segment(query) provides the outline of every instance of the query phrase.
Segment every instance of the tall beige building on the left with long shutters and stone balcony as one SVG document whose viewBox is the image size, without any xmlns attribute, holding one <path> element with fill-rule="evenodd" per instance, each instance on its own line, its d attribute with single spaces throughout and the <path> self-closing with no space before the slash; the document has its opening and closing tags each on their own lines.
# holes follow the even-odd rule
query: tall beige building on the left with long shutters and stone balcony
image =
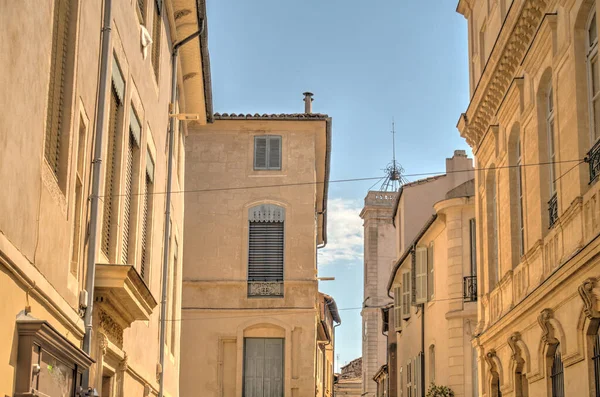
<svg viewBox="0 0 600 397">
<path fill-rule="evenodd" d="M 91 368 L 101 396 L 157 395 L 157 303 L 167 288 L 168 318 L 178 317 L 183 197 L 172 202 L 171 277 L 161 285 L 165 195 L 154 193 L 166 190 L 171 51 L 202 28 L 204 2 L 3 1 L 0 8 L 10 37 L 0 44 L 0 394 L 74 396 Z M 195 125 L 212 115 L 208 65 L 204 23 L 175 63 L 173 111 L 197 114 Z M 174 129 L 174 190 L 183 189 L 186 128 Z M 93 199 L 99 217 L 91 230 L 93 164 L 101 197 Z M 93 232 L 86 354 L 82 291 L 93 274 L 86 259 Z M 168 396 L 179 395 L 179 324 L 167 326 Z"/>
</svg>

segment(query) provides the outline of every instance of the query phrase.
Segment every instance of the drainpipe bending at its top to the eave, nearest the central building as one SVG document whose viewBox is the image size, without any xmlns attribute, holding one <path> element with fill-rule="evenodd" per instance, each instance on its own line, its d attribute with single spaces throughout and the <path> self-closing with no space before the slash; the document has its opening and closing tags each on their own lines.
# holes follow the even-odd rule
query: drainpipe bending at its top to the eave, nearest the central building
<svg viewBox="0 0 600 397">
<path fill-rule="evenodd" d="M 167 313 L 167 282 L 169 278 L 169 243 L 170 243 L 170 227 L 171 223 L 171 182 L 173 179 L 173 143 L 175 141 L 175 101 L 177 100 L 177 55 L 179 53 L 179 47 L 188 43 L 202 34 L 204 30 L 204 19 L 199 21 L 201 26 L 200 30 L 196 33 L 192 33 L 185 39 L 176 43 L 173 46 L 173 52 L 171 54 L 171 103 L 169 104 L 169 156 L 167 158 L 167 190 L 166 190 L 166 211 L 165 211 L 165 235 L 163 242 L 163 263 L 162 263 L 162 298 L 160 301 L 160 374 L 159 374 L 159 387 L 158 397 L 163 397 L 164 385 L 165 385 L 165 339 L 166 339 L 166 313 Z"/>
</svg>

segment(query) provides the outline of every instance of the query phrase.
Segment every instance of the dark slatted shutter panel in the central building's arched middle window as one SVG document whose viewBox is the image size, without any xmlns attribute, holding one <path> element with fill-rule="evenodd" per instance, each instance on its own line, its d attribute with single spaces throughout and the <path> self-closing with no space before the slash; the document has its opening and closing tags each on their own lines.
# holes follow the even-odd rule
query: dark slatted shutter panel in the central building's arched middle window
<svg viewBox="0 0 600 397">
<path fill-rule="evenodd" d="M 283 281 L 283 222 L 250 222 L 248 281 Z"/>
</svg>

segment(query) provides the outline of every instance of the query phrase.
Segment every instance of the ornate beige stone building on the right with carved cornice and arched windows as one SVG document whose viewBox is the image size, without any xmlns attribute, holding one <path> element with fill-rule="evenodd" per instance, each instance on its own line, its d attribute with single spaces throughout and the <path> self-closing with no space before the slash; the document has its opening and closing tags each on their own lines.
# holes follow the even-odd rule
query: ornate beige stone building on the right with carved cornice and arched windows
<svg viewBox="0 0 600 397">
<path fill-rule="evenodd" d="M 480 396 L 596 396 L 594 1 L 458 3 L 469 31 Z M 584 162 L 585 159 L 585 162 Z"/>
</svg>

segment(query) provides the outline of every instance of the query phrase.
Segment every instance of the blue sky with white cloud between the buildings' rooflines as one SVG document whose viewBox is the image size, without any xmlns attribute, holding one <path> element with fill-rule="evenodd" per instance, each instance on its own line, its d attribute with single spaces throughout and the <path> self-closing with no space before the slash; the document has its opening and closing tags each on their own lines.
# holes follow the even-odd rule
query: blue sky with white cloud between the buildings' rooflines
<svg viewBox="0 0 600 397">
<path fill-rule="evenodd" d="M 374 177 L 396 153 L 407 174 L 443 172 L 468 146 L 456 122 L 468 106 L 466 20 L 449 0 L 207 2 L 216 112 L 333 118 L 331 180 Z M 415 178 L 409 178 L 413 180 Z M 373 182 L 332 183 L 329 244 L 319 274 L 340 309 L 336 355 L 361 355 L 362 200 Z"/>
</svg>

